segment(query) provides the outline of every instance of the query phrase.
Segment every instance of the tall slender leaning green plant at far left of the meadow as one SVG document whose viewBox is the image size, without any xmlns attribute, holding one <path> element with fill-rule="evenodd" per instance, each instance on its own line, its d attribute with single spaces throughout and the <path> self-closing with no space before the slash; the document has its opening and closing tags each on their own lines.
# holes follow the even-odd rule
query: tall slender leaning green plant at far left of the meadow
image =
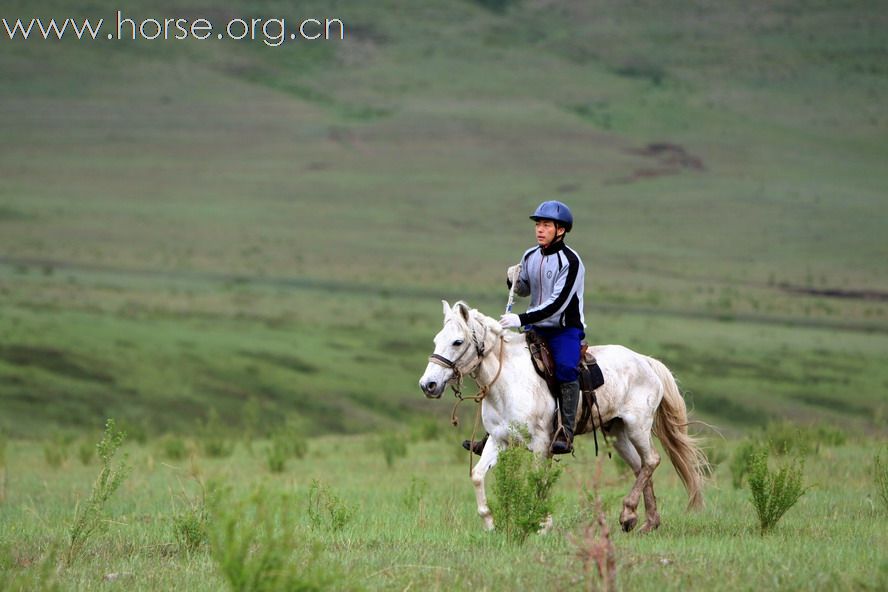
<svg viewBox="0 0 888 592">
<path fill-rule="evenodd" d="M 65 563 L 68 565 L 71 565 L 89 539 L 105 526 L 103 520 L 105 504 L 123 483 L 130 470 L 126 456 L 116 465 L 113 462 L 114 455 L 125 438 L 126 434 L 117 430 L 113 419 L 105 423 L 105 433 L 96 444 L 102 469 L 93 483 L 89 499 L 82 504 L 78 503 L 75 509 L 74 522 L 68 532 L 68 550 L 65 554 Z"/>
</svg>

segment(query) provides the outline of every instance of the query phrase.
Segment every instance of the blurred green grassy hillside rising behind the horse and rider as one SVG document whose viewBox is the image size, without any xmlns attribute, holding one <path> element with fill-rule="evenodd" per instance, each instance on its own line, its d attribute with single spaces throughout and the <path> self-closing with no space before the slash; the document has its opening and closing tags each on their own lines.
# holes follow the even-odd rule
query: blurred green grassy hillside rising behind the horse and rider
<svg viewBox="0 0 888 592">
<path fill-rule="evenodd" d="M 127 10 L 257 13 L 346 38 L 0 39 L 0 428 L 237 425 L 251 399 L 316 432 L 443 421 L 416 387 L 440 298 L 497 314 L 558 198 L 590 341 L 729 429 L 885 429 L 877 3 Z"/>
</svg>

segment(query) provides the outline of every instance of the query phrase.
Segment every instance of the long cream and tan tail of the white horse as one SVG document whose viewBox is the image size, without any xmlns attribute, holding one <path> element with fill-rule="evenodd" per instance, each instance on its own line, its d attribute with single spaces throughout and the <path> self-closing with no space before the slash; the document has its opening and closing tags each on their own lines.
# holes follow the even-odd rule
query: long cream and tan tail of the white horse
<svg viewBox="0 0 888 592">
<path fill-rule="evenodd" d="M 654 416 L 654 435 L 660 439 L 672 466 L 688 491 L 688 509 L 703 507 L 703 479 L 709 468 L 699 439 L 688 434 L 688 412 L 675 378 L 663 362 L 648 357 L 663 383 L 663 400 Z"/>
</svg>

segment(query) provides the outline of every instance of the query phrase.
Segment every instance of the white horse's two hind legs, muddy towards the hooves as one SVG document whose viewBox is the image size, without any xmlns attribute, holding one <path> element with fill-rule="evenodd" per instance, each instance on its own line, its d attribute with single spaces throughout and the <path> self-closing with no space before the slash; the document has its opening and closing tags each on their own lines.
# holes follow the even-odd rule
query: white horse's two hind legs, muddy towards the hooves
<svg viewBox="0 0 888 592">
<path fill-rule="evenodd" d="M 644 494 L 645 510 L 647 511 L 647 520 L 645 521 L 643 531 L 653 530 L 660 524 L 660 516 L 657 513 L 657 502 L 654 498 L 654 487 L 651 480 L 654 470 L 660 464 L 660 455 L 654 450 L 653 443 L 651 442 L 650 423 L 648 421 L 646 422 L 647 425 L 638 425 L 635 422 L 627 422 L 625 418 L 623 419 L 623 433 L 628 440 L 628 443 L 624 446 L 627 450 L 632 450 L 629 456 L 634 462 L 638 463 L 636 465 L 638 466 L 637 470 L 636 466 L 632 467 L 633 470 L 636 470 L 635 483 L 629 491 L 629 495 L 623 498 L 623 511 L 620 513 L 620 525 L 626 532 L 635 528 L 638 522 L 636 510 L 638 509 L 638 502 L 642 493 Z M 626 455 L 623 455 L 623 458 L 626 458 Z M 629 459 L 627 459 L 627 462 L 632 464 Z"/>
</svg>

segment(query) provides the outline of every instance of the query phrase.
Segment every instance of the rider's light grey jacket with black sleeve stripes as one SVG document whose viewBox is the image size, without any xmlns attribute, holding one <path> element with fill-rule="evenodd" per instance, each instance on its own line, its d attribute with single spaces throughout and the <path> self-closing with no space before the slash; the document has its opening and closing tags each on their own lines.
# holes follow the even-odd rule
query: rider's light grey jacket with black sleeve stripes
<svg viewBox="0 0 888 592">
<path fill-rule="evenodd" d="M 545 249 L 540 246 L 528 249 L 521 261 L 515 293 L 531 297 L 527 312 L 518 315 L 521 325 L 584 330 L 586 268 L 577 252 L 564 241 L 557 241 Z"/>
</svg>

